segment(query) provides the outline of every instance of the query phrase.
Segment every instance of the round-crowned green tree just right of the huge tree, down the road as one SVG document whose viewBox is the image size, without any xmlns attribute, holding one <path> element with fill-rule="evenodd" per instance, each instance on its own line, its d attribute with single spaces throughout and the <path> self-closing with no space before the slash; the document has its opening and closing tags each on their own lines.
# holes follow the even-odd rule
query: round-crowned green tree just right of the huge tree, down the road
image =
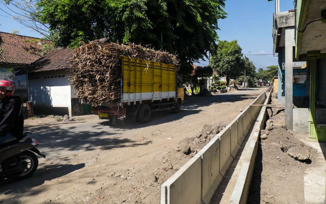
<svg viewBox="0 0 326 204">
<path fill-rule="evenodd" d="M 212 67 L 220 76 L 226 76 L 227 86 L 230 78 L 237 78 L 242 73 L 242 49 L 237 40 L 219 41 L 217 51 L 212 55 Z"/>
</svg>

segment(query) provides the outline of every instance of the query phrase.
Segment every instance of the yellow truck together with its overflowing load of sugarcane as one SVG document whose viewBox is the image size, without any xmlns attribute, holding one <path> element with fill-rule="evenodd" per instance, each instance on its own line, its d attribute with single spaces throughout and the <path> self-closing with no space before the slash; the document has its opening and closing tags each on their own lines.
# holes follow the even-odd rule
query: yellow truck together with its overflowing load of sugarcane
<svg viewBox="0 0 326 204">
<path fill-rule="evenodd" d="M 91 103 L 100 119 L 132 118 L 145 123 L 152 112 L 184 103 L 175 55 L 141 45 L 95 40 L 75 50 L 71 81 L 75 94 Z"/>
</svg>

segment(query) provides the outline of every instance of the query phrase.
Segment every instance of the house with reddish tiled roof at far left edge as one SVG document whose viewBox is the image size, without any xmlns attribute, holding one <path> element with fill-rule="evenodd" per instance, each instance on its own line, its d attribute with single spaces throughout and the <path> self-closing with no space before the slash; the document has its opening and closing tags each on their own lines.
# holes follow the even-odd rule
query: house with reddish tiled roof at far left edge
<svg viewBox="0 0 326 204">
<path fill-rule="evenodd" d="M 15 95 L 21 96 L 27 101 L 27 80 L 22 72 L 41 56 L 42 44 L 51 43 L 33 37 L 0 32 L 0 78 L 13 81 L 15 84 Z M 26 71 L 24 72 L 26 73 Z"/>
</svg>

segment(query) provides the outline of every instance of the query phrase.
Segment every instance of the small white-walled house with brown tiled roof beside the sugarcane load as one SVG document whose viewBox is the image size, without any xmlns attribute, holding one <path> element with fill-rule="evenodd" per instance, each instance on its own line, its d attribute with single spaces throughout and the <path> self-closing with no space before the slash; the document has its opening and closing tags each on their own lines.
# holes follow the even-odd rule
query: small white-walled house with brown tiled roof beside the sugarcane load
<svg viewBox="0 0 326 204">
<path fill-rule="evenodd" d="M 69 116 L 91 112 L 91 106 L 82 105 L 70 85 L 69 67 L 73 55 L 72 49 L 56 48 L 30 65 L 28 93 L 34 112 Z"/>
</svg>

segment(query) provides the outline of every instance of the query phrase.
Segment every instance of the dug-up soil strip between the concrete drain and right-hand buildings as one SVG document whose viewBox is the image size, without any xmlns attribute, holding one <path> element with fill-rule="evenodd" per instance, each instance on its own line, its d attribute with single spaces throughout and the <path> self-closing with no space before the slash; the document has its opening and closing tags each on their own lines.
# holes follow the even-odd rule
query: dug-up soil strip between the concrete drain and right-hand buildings
<svg viewBox="0 0 326 204">
<path fill-rule="evenodd" d="M 268 136 L 259 140 L 248 203 L 305 203 L 304 171 L 315 165 L 317 152 L 300 141 L 307 134 L 284 128 L 283 108 L 272 108 L 273 114 L 271 110 L 268 112 L 273 121 L 272 130 L 267 130 L 267 126 L 261 132 L 267 132 Z M 293 149 L 297 154 L 309 155 L 309 158 L 303 161 L 294 159 L 289 156 Z"/>
</svg>

